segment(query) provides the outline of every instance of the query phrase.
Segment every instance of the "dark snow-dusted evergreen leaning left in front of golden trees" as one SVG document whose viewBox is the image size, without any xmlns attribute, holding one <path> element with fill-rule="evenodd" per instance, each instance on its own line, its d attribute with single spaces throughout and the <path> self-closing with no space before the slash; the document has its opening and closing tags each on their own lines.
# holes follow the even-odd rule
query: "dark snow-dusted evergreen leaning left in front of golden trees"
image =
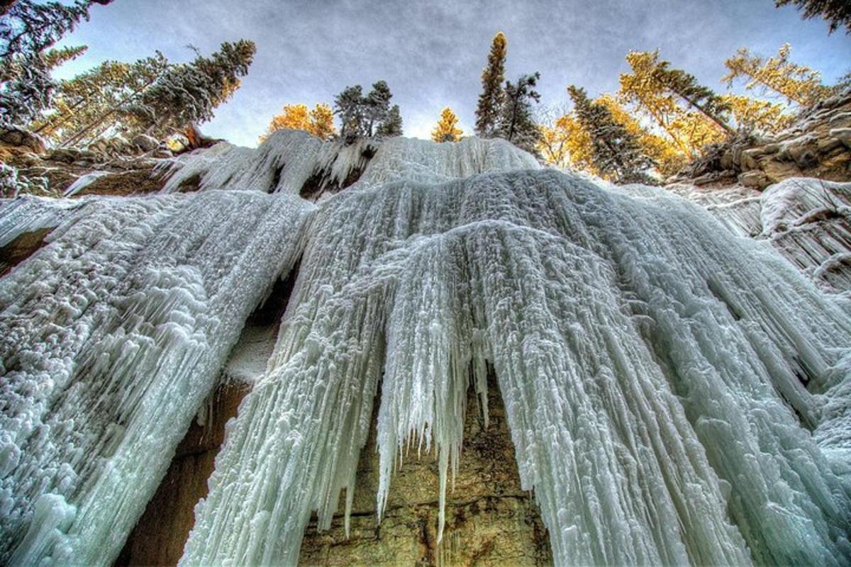
<svg viewBox="0 0 851 567">
<path fill-rule="evenodd" d="M 591 137 L 594 165 L 601 175 L 617 183 L 648 183 L 645 170 L 654 162 L 643 153 L 637 139 L 614 120 L 604 105 L 592 103 L 584 88 L 568 87 L 577 120 Z"/>
</svg>

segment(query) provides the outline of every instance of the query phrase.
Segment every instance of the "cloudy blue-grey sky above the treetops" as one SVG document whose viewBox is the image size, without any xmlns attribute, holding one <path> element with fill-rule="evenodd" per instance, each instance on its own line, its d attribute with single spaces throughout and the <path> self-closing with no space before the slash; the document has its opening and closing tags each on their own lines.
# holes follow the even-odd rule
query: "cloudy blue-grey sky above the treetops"
<svg viewBox="0 0 851 567">
<path fill-rule="evenodd" d="M 570 83 L 592 95 L 614 91 L 631 49 L 660 48 L 719 90 L 724 59 L 742 46 L 773 54 L 791 43 L 793 60 L 822 71 L 825 82 L 851 71 L 851 36 L 829 36 L 822 20 L 801 20 L 774 0 L 115 0 L 95 6 L 66 38 L 89 52 L 61 76 L 155 49 L 191 60 L 188 44 L 209 54 L 246 37 L 257 44 L 254 65 L 204 132 L 255 145 L 284 104 L 330 103 L 346 85 L 385 79 L 405 134 L 426 138 L 447 105 L 471 128 L 500 30 L 508 37 L 507 78 L 540 71 L 545 105 L 563 103 Z"/>
</svg>

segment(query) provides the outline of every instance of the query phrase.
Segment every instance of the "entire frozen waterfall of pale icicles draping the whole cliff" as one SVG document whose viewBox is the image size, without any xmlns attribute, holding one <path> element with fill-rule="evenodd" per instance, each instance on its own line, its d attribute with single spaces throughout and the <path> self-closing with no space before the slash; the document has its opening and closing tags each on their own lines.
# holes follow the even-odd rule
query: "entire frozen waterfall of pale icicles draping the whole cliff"
<svg viewBox="0 0 851 567">
<path fill-rule="evenodd" d="M 299 258 L 183 564 L 295 564 L 311 513 L 351 507 L 374 404 L 377 509 L 422 445 L 442 532 L 487 366 L 556 564 L 851 561 L 842 294 L 694 203 L 501 140 L 369 153 L 280 133 L 174 164 L 160 195 L 0 209 L 0 246 L 55 227 L 0 279 L 0 563 L 111 564 Z M 300 198 L 323 167 L 363 174 Z"/>
</svg>

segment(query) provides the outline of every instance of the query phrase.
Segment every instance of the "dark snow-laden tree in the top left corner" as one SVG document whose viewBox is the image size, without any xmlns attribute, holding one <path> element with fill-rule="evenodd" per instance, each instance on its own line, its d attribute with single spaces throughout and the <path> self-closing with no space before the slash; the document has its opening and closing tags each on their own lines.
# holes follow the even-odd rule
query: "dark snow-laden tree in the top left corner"
<svg viewBox="0 0 851 567">
<path fill-rule="evenodd" d="M 47 51 L 80 20 L 89 20 L 92 3 L 73 4 L 19 0 L 5 7 L 0 21 L 0 120 L 31 122 L 50 105 L 55 82 L 50 71 L 72 59 L 79 48 Z"/>
</svg>

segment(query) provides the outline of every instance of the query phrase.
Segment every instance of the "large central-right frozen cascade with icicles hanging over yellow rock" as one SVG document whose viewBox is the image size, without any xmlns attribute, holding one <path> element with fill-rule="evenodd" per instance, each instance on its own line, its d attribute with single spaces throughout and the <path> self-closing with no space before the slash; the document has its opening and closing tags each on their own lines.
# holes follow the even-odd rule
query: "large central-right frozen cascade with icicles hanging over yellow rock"
<svg viewBox="0 0 851 567">
<path fill-rule="evenodd" d="M 393 142 L 311 222 L 184 564 L 294 564 L 351 507 L 376 393 L 379 509 L 410 451 L 443 505 L 488 363 L 557 564 L 848 562 L 847 311 L 661 190 L 447 181 L 482 171 L 465 146 Z"/>
</svg>

